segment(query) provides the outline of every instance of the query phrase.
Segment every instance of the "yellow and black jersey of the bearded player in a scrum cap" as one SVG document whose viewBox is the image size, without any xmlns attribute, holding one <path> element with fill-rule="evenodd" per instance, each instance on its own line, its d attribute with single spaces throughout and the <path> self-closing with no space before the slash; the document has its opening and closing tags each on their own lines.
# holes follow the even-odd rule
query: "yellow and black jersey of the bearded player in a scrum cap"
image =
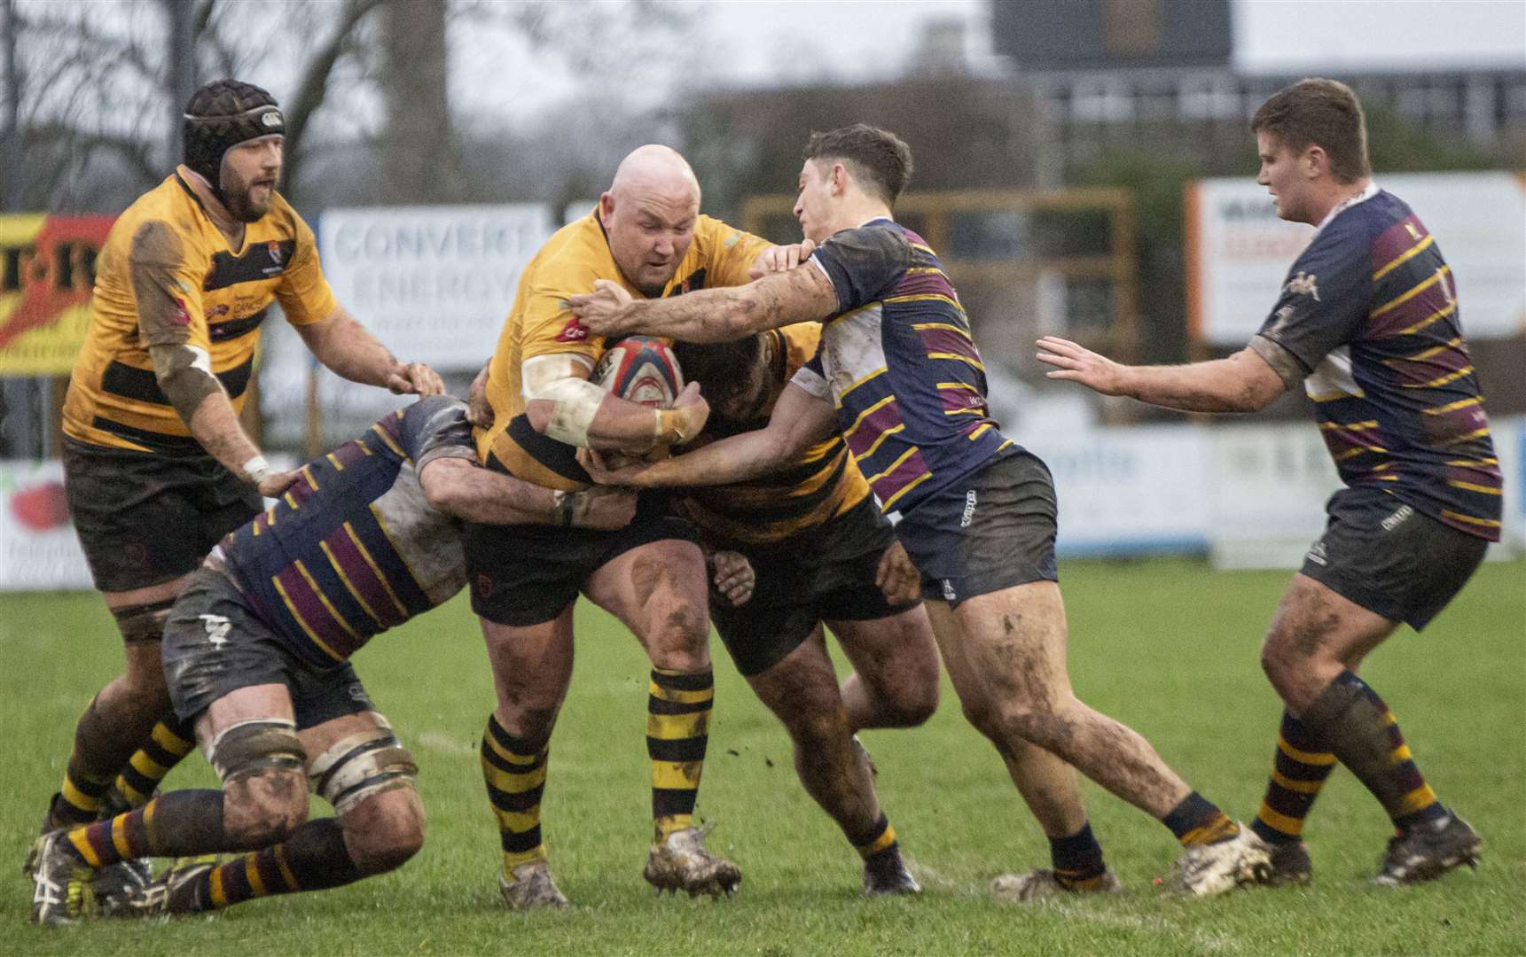
<svg viewBox="0 0 1526 957">
<path fill-rule="evenodd" d="M 177 168 L 111 226 L 90 297 L 90 331 L 64 399 L 70 439 L 203 454 L 160 392 L 148 347 L 206 349 L 238 410 L 270 302 L 279 300 L 293 325 L 328 318 L 339 305 L 319 267 L 313 230 L 279 194 L 270 212 L 244 227 L 243 248 L 232 250 L 186 184 L 188 175 Z M 165 328 L 145 326 L 140 297 L 168 305 Z"/>
</svg>

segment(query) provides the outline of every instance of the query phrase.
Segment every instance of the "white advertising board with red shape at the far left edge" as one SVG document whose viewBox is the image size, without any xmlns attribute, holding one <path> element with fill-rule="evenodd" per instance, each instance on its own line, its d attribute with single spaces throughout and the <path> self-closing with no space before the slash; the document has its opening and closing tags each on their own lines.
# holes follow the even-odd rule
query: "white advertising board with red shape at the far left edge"
<svg viewBox="0 0 1526 957">
<path fill-rule="evenodd" d="M 92 587 L 64 503 L 63 463 L 0 462 L 0 591 Z"/>
</svg>

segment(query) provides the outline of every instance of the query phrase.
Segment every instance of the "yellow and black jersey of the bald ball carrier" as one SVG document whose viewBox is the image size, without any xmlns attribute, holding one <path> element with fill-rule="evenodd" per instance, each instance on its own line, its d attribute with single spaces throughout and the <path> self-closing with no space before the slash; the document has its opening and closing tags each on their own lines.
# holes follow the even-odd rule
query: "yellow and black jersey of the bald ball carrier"
<svg viewBox="0 0 1526 957">
<path fill-rule="evenodd" d="M 662 294 L 743 285 L 758 253 L 768 247 L 766 239 L 699 216 L 694 241 Z M 598 361 L 604 354 L 603 337 L 589 335 L 568 306 L 569 296 L 592 293 L 598 279 L 618 282 L 633 297 L 642 297 L 615 265 L 595 209 L 557 230 L 519 279 L 514 306 L 504 320 L 488 372 L 493 427 L 476 431 L 478 454 L 488 468 L 551 489 L 589 486 L 588 472 L 577 463 L 577 450 L 531 428 L 519 376 L 520 364 L 537 355 L 571 352 L 586 357 L 591 367 Z"/>
</svg>

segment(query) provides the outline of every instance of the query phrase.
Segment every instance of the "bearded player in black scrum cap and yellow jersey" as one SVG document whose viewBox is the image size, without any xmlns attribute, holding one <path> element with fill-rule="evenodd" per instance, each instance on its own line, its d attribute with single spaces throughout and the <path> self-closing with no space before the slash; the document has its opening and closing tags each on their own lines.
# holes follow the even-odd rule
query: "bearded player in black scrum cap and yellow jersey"
<svg viewBox="0 0 1526 957">
<path fill-rule="evenodd" d="M 284 128 L 259 87 L 197 90 L 185 163 L 122 213 L 101 251 L 64 401 L 64 488 L 127 667 L 79 719 L 49 829 L 95 820 L 114 779 L 145 802 L 194 744 L 169 716 L 160 666 L 169 607 L 208 550 L 259 514 L 259 497 L 296 478 L 272 469 L 238 422 L 272 302 L 339 375 L 443 390 L 334 300 L 313 232 L 276 192 Z"/>
</svg>

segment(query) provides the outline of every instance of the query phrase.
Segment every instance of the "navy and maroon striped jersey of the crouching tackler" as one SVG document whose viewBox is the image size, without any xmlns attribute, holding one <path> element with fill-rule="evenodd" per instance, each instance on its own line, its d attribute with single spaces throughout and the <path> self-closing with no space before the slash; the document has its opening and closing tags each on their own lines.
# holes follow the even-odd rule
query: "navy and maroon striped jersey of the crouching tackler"
<svg viewBox="0 0 1526 957">
<path fill-rule="evenodd" d="M 218 546 L 255 613 L 304 661 L 333 667 L 465 585 L 459 526 L 418 482 L 441 456 L 476 462 L 465 405 L 420 399 L 304 465 L 270 511 Z"/>
</svg>

